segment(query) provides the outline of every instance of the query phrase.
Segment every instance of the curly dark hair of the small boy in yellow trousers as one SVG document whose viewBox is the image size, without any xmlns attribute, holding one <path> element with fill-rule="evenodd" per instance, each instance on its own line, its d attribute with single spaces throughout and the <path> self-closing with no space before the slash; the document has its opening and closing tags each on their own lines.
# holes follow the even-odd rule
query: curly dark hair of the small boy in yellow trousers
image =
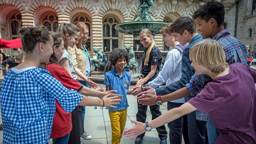
<svg viewBox="0 0 256 144">
<path fill-rule="evenodd" d="M 129 62 L 129 54 L 127 50 L 125 49 L 120 49 L 120 48 L 115 48 L 111 51 L 109 55 L 109 62 L 111 66 L 115 66 L 115 63 L 118 61 L 119 58 L 125 58 L 126 63 Z"/>
</svg>

